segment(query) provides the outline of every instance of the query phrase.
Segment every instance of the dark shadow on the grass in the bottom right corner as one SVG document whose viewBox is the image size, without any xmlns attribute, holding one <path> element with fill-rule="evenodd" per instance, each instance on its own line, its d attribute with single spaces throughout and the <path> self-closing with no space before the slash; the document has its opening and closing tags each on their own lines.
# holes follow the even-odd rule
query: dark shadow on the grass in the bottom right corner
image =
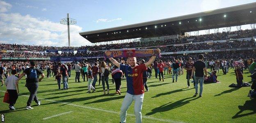
<svg viewBox="0 0 256 123">
<path fill-rule="evenodd" d="M 238 109 L 240 109 L 240 111 L 237 112 L 235 114 L 235 116 L 232 117 L 233 119 L 234 118 L 240 118 L 240 117 L 247 116 L 247 115 L 251 115 L 251 114 L 256 114 L 255 100 L 247 100 L 247 101 L 245 101 L 245 104 L 243 106 L 239 105 Z M 242 112 L 247 111 L 247 110 L 250 110 L 252 112 L 246 113 L 246 114 L 241 114 Z"/>
</svg>

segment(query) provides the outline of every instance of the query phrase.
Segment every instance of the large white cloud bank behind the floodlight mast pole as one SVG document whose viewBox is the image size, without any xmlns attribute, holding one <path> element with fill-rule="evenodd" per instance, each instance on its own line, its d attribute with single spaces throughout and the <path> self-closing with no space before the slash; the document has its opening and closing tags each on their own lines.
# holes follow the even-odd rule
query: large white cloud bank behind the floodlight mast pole
<svg viewBox="0 0 256 123">
<path fill-rule="evenodd" d="M 41 20 L 19 13 L 0 14 L 0 41 L 12 39 L 9 43 L 43 46 L 67 46 L 67 27 L 49 20 Z M 71 46 L 91 45 L 79 35 L 82 27 L 70 26 Z"/>
</svg>

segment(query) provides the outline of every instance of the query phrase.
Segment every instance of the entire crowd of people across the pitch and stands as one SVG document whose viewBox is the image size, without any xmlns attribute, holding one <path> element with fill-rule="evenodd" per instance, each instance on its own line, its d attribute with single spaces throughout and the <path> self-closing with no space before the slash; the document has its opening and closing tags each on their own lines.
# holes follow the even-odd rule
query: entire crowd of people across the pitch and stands
<svg viewBox="0 0 256 123">
<path fill-rule="evenodd" d="M 166 44 L 187 43 L 186 39 L 196 39 L 196 41 L 208 40 L 222 40 L 232 38 L 244 38 L 255 36 L 255 30 L 244 30 L 236 32 L 222 32 L 217 34 L 208 34 L 203 36 L 190 36 L 186 38 L 178 38 L 176 40 L 154 41 L 153 43 L 133 42 L 124 43 L 123 47 L 138 47 L 138 46 L 157 46 L 162 42 Z M 161 42 L 161 43 L 160 43 Z M 158 44 L 155 44 L 158 43 Z M 157 49 L 158 53 L 162 52 L 178 52 L 188 50 L 208 50 L 208 49 L 229 49 L 229 48 L 248 48 L 255 46 L 254 39 L 249 41 L 230 41 L 226 43 L 191 43 L 185 46 L 167 46 L 165 48 Z M 104 48 L 105 47 L 105 48 Z M 67 47 L 46 47 L 46 46 L 27 46 L 27 45 L 10 45 L 1 44 L 0 48 L 3 50 L 74 50 L 75 48 Z M 120 49 L 122 47 L 117 45 L 104 46 L 82 46 L 76 49 L 88 48 L 89 50 L 108 50 L 110 48 Z M 0 57 L 95 57 L 102 56 L 104 52 L 66 52 L 58 53 L 18 53 L 18 52 L 1 52 Z M 147 86 L 147 79 L 154 76 L 159 81 L 165 81 L 165 75 L 172 75 L 172 82 L 178 82 L 179 77 L 186 73 L 186 86 L 190 88 L 190 83 L 193 83 L 195 88 L 194 96 L 199 97 L 203 95 L 203 82 L 219 82 L 217 80 L 217 73 L 221 70 L 224 75 L 229 73 L 231 68 L 234 68 L 238 86 L 242 86 L 243 70 L 249 69 L 253 74 L 256 69 L 256 56 L 254 50 L 237 50 L 225 52 L 205 52 L 205 53 L 190 53 L 190 54 L 173 54 L 162 55 L 156 59 L 153 55 L 149 57 L 130 57 L 130 58 L 108 58 L 106 61 L 103 58 L 99 59 L 80 59 L 73 62 L 61 63 L 60 61 L 52 60 L 1 60 L 0 61 L 0 81 L 2 86 L 7 86 L 7 91 L 10 95 L 9 109 L 15 110 L 14 104 L 18 99 L 18 83 L 24 76 L 26 78 L 26 87 L 30 91 L 30 97 L 27 101 L 26 109 L 33 109 L 31 107 L 32 100 L 37 105 L 41 102 L 37 99 L 37 88 L 45 75 L 46 77 L 55 77 L 56 88 L 59 90 L 69 89 L 69 78 L 71 71 L 75 71 L 75 82 L 87 82 L 87 93 L 94 93 L 96 91 L 96 83 L 102 84 L 103 94 L 110 94 L 109 77 L 112 77 L 112 83 L 115 84 L 115 93 L 121 95 L 121 79 L 126 79 L 127 93 L 121 106 L 120 120 L 126 121 L 126 112 L 130 104 L 135 101 L 135 116 L 136 122 L 142 121 L 141 110 L 144 98 L 144 88 L 149 91 Z M 147 61 L 147 62 L 146 62 Z M 235 65 L 239 62 L 239 65 Z M 240 66 L 242 64 L 242 66 Z M 210 71 L 207 71 L 210 68 Z M 153 73 L 152 74 L 152 72 Z M 185 72 L 186 70 L 186 72 Z M 41 76 L 41 77 L 40 77 Z M 5 83 L 4 83 L 5 78 Z M 82 78 L 82 79 L 81 79 Z M 251 78 L 253 80 L 253 78 Z M 136 81 L 136 82 L 135 82 Z M 61 83 L 63 87 L 61 87 Z M 135 85 L 136 84 L 136 85 Z"/>
</svg>

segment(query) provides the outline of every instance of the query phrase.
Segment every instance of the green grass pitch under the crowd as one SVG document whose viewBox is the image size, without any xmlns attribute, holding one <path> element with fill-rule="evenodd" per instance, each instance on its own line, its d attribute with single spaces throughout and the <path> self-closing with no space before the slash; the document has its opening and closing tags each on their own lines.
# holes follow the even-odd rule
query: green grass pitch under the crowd
<svg viewBox="0 0 256 123">
<path fill-rule="evenodd" d="M 37 97 L 41 99 L 41 106 L 36 106 L 33 101 L 34 109 L 32 110 L 25 109 L 29 93 L 23 79 L 19 84 L 20 94 L 26 96 L 19 96 L 15 111 L 9 111 L 7 103 L 0 103 L 0 113 L 5 114 L 7 123 L 119 123 L 118 112 L 126 94 L 126 80 L 122 80 L 120 96 L 113 94 L 115 86 L 111 80 L 109 82 L 111 94 L 104 96 L 102 85 L 98 86 L 98 82 L 94 93 L 86 93 L 87 82 L 75 83 L 74 74 L 73 71 L 69 79 L 69 90 L 57 90 L 57 82 L 53 77 L 43 79 L 39 83 L 37 93 Z M 227 75 L 218 73 L 218 80 L 221 83 L 204 84 L 202 98 L 192 97 L 195 89 L 186 88 L 185 75 L 181 75 L 178 82 L 174 83 L 171 83 L 171 75 L 165 75 L 165 82 L 159 82 L 155 77 L 148 79 L 149 92 L 145 92 L 142 107 L 143 122 L 251 123 L 255 121 L 256 102 L 247 97 L 250 87 L 240 89 L 228 87 L 231 83 L 236 83 L 234 74 L 233 69 Z M 248 71 L 245 71 L 244 82 L 250 81 L 248 75 Z M 6 88 L 0 87 L 0 90 L 0 100 L 3 100 L 4 92 L 2 91 Z M 128 109 L 128 114 L 134 114 L 133 107 L 132 104 Z M 43 118 L 70 111 L 73 112 L 43 120 Z M 127 123 L 134 122 L 135 116 L 127 116 Z"/>
</svg>

